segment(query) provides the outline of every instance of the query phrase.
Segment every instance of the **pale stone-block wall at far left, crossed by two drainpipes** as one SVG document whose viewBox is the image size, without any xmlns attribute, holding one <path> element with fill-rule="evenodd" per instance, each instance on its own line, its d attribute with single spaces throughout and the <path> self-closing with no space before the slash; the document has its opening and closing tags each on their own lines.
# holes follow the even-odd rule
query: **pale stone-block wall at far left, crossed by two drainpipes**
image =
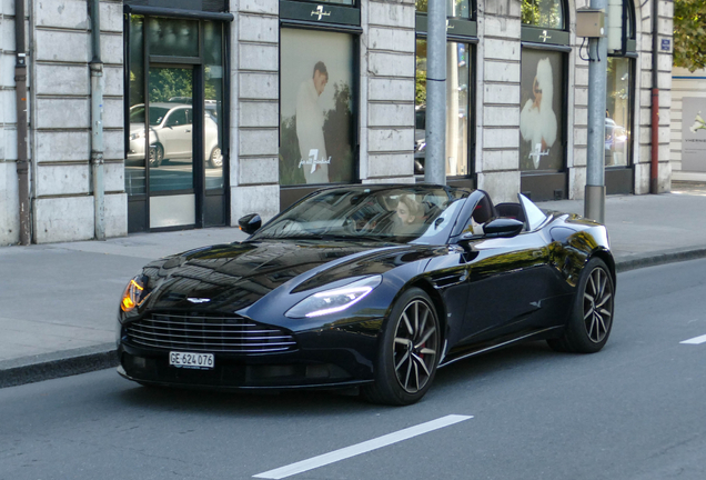
<svg viewBox="0 0 706 480">
<path fill-rule="evenodd" d="M 13 2 L 2 2 L 3 43 L 14 39 Z M 91 21 L 85 0 L 30 0 L 28 17 L 28 118 L 32 232 L 37 243 L 94 237 L 91 179 Z M 127 234 L 123 137 L 122 2 L 101 1 L 104 63 L 103 128 L 105 234 Z M 14 47 L 2 52 L 3 71 L 14 71 Z M 8 80 L 12 80 L 8 83 Z M 3 76 L 3 166 L 0 243 L 19 241 L 14 80 Z M 11 101 L 10 101 L 11 100 Z M 9 153 L 9 154 L 8 154 Z M 4 173 L 4 174 L 2 174 Z M 11 197 L 10 197 L 11 196 Z M 3 200 L 6 200 L 3 199 Z M 13 208 L 14 206 L 14 208 Z M 3 217 L 6 216 L 6 217 Z"/>
</svg>

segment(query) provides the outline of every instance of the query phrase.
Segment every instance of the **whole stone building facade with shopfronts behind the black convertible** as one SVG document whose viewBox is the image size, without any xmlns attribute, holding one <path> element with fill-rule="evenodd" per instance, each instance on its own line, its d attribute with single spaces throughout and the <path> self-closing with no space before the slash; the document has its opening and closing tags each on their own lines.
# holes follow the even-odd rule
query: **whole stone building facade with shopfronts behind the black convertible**
<svg viewBox="0 0 706 480">
<path fill-rule="evenodd" d="M 2 2 L 0 244 L 19 241 L 21 219 L 14 3 Z M 90 3 L 26 0 L 33 242 L 92 239 L 99 222 L 107 237 L 233 226 L 321 186 L 423 180 L 426 0 L 101 1 L 100 119 Z M 607 59 L 606 188 L 643 194 L 652 2 L 612 3 L 626 34 Z M 450 184 L 496 202 L 583 198 L 588 61 L 576 10 L 587 6 L 447 1 Z M 658 183 L 668 191 L 673 3 L 658 9 Z"/>
</svg>

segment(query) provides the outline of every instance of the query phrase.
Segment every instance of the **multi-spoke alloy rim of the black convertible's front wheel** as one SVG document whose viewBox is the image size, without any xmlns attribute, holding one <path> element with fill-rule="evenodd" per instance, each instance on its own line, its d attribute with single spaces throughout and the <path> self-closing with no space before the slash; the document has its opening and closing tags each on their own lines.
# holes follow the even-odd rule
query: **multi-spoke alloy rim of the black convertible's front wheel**
<svg viewBox="0 0 706 480">
<path fill-rule="evenodd" d="M 402 312 L 394 338 L 394 369 L 407 393 L 424 388 L 436 367 L 438 331 L 433 309 L 423 300 L 411 301 Z"/>
</svg>

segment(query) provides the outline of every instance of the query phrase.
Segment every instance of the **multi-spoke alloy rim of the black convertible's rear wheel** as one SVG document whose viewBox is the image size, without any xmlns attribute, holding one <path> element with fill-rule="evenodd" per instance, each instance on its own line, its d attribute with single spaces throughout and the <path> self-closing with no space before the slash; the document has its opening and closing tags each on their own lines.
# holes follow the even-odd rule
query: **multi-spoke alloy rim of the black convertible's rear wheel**
<svg viewBox="0 0 706 480">
<path fill-rule="evenodd" d="M 584 292 L 584 323 L 588 339 L 594 343 L 603 341 L 613 321 L 613 283 L 602 268 L 595 268 L 588 276 Z"/>
</svg>

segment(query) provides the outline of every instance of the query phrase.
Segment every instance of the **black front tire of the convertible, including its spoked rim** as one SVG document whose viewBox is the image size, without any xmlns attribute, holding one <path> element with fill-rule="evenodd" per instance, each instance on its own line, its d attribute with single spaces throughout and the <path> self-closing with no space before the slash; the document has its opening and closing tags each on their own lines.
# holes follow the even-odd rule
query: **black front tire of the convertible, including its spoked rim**
<svg viewBox="0 0 706 480">
<path fill-rule="evenodd" d="M 441 329 L 432 299 L 406 290 L 385 321 L 375 359 L 375 382 L 362 388 L 373 402 L 406 406 L 418 401 L 434 380 L 441 354 Z"/>
</svg>

